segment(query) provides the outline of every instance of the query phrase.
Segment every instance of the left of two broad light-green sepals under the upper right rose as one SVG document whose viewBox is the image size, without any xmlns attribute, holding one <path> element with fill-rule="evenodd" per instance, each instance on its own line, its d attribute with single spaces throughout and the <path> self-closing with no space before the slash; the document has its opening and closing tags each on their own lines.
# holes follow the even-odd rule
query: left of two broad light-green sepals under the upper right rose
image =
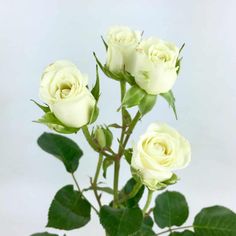
<svg viewBox="0 0 236 236">
<path fill-rule="evenodd" d="M 139 105 L 145 95 L 146 92 L 143 89 L 134 85 L 126 92 L 122 101 L 122 106 L 129 108 Z"/>
</svg>

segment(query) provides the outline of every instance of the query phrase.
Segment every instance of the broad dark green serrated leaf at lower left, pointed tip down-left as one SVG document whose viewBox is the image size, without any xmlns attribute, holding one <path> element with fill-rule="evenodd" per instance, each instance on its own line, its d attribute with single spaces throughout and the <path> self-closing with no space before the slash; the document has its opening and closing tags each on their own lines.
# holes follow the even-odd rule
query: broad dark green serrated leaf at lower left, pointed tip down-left
<svg viewBox="0 0 236 236">
<path fill-rule="evenodd" d="M 60 189 L 48 213 L 47 227 L 72 230 L 83 227 L 90 220 L 91 206 L 72 185 Z"/>
</svg>

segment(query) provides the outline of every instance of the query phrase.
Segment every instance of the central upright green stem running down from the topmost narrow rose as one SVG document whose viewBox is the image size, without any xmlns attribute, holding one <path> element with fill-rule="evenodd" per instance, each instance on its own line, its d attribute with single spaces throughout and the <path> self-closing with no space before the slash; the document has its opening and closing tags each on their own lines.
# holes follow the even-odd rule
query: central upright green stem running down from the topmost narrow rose
<svg viewBox="0 0 236 236">
<path fill-rule="evenodd" d="M 121 94 L 121 103 L 125 96 L 126 92 L 126 84 L 124 81 L 120 82 L 120 94 Z M 121 108 L 121 117 L 122 117 L 122 130 L 121 130 L 121 136 L 120 136 L 120 144 L 118 149 L 118 154 L 115 157 L 115 163 L 114 163 L 114 182 L 113 182 L 113 189 L 114 189 L 114 199 L 113 199 L 113 206 L 116 207 L 116 203 L 118 202 L 118 187 L 119 187 L 119 172 L 120 172 L 120 158 L 121 158 L 121 152 L 122 152 L 122 144 L 123 139 L 125 135 L 125 124 L 124 124 L 124 108 Z"/>
</svg>

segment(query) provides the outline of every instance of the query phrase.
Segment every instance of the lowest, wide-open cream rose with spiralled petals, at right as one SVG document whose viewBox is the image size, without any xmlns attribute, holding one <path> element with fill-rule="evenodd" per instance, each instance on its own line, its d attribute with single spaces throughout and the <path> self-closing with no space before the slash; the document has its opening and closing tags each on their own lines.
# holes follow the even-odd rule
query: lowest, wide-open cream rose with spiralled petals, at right
<svg viewBox="0 0 236 236">
<path fill-rule="evenodd" d="M 153 123 L 133 150 L 131 167 L 144 185 L 156 190 L 191 159 L 189 142 L 166 124 Z"/>
</svg>

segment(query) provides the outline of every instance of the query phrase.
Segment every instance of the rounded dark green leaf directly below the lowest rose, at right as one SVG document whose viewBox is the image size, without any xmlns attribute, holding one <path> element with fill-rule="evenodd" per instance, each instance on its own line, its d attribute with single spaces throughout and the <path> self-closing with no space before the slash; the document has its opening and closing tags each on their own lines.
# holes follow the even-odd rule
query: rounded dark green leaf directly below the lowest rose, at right
<svg viewBox="0 0 236 236">
<path fill-rule="evenodd" d="M 188 218 L 188 204 L 181 193 L 166 191 L 156 198 L 153 214 L 160 228 L 180 226 Z"/>
</svg>

